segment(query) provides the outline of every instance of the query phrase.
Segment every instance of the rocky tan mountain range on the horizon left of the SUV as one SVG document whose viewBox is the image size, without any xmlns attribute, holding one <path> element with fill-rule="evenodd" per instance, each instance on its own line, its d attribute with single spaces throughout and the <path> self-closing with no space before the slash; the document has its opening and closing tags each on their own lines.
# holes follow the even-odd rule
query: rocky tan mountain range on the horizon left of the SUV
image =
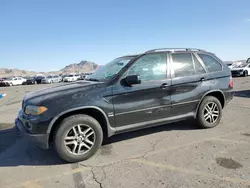
<svg viewBox="0 0 250 188">
<path fill-rule="evenodd" d="M 50 72 L 35 72 L 35 71 L 27 71 L 20 69 L 6 69 L 0 68 L 0 77 L 9 77 L 9 76 L 33 76 L 37 74 L 69 74 L 69 73 L 86 73 L 92 72 L 97 69 L 100 65 L 91 62 L 91 61 L 81 61 L 80 63 L 74 63 L 67 65 L 61 70 L 58 71 L 50 71 Z"/>
</svg>

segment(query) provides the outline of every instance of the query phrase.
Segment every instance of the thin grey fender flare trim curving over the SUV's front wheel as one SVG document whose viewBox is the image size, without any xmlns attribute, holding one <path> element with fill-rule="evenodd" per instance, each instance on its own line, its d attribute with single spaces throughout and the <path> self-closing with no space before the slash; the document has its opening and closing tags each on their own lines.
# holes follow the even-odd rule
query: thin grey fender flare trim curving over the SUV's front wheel
<svg viewBox="0 0 250 188">
<path fill-rule="evenodd" d="M 83 106 L 83 107 L 77 107 L 77 108 L 72 108 L 69 110 L 66 110 L 64 112 L 61 112 L 60 114 L 58 114 L 56 117 L 54 117 L 52 119 L 52 121 L 49 124 L 48 130 L 47 130 L 47 134 L 50 134 L 52 127 L 54 126 L 56 120 L 58 120 L 61 116 L 63 116 L 64 114 L 67 114 L 69 112 L 73 112 L 73 111 L 77 111 L 77 110 L 83 110 L 83 109 L 95 109 L 98 110 L 99 112 L 101 112 L 106 120 L 107 123 L 107 131 L 108 131 L 108 137 L 112 136 L 115 133 L 115 129 L 111 127 L 108 117 L 106 115 L 106 113 L 99 107 L 97 106 Z"/>
</svg>

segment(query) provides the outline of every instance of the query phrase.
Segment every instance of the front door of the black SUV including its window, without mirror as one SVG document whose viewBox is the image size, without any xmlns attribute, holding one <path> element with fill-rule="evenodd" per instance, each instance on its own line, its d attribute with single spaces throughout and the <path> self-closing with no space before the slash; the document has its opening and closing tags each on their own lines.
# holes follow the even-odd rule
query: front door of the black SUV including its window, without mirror
<svg viewBox="0 0 250 188">
<path fill-rule="evenodd" d="M 146 54 L 131 65 L 113 87 L 117 127 L 144 127 L 170 115 L 170 85 L 167 54 Z M 139 75 L 141 83 L 127 86 L 121 80 Z"/>
</svg>

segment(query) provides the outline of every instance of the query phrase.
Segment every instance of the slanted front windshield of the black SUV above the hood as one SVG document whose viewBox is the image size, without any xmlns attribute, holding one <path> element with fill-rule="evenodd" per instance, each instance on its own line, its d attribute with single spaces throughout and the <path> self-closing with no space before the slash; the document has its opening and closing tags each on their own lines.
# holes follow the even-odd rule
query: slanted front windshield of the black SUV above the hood
<svg viewBox="0 0 250 188">
<path fill-rule="evenodd" d="M 112 79 L 120 70 L 127 65 L 133 57 L 121 57 L 114 59 L 106 65 L 97 69 L 93 74 L 88 75 L 86 80 L 106 81 Z"/>
</svg>

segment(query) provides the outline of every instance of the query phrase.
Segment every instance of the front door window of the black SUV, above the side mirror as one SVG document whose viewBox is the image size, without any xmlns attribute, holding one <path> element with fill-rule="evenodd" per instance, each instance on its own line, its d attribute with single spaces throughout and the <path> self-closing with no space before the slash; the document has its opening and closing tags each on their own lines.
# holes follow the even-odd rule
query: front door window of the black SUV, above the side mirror
<svg viewBox="0 0 250 188">
<path fill-rule="evenodd" d="M 128 70 L 127 75 L 139 75 L 141 81 L 166 78 L 167 63 L 165 53 L 148 54 L 138 59 Z"/>
</svg>

